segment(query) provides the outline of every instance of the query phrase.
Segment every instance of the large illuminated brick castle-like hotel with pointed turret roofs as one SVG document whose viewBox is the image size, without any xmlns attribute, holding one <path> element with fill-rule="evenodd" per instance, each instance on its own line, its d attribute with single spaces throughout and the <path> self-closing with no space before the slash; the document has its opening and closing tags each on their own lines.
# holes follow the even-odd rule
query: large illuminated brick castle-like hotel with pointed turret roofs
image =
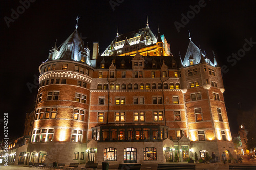
<svg viewBox="0 0 256 170">
<path fill-rule="evenodd" d="M 146 27 L 114 35 L 102 54 L 76 30 L 39 66 L 26 149 L 34 163 L 163 163 L 233 154 L 221 68 L 184 40 L 173 56 Z"/>
</svg>

